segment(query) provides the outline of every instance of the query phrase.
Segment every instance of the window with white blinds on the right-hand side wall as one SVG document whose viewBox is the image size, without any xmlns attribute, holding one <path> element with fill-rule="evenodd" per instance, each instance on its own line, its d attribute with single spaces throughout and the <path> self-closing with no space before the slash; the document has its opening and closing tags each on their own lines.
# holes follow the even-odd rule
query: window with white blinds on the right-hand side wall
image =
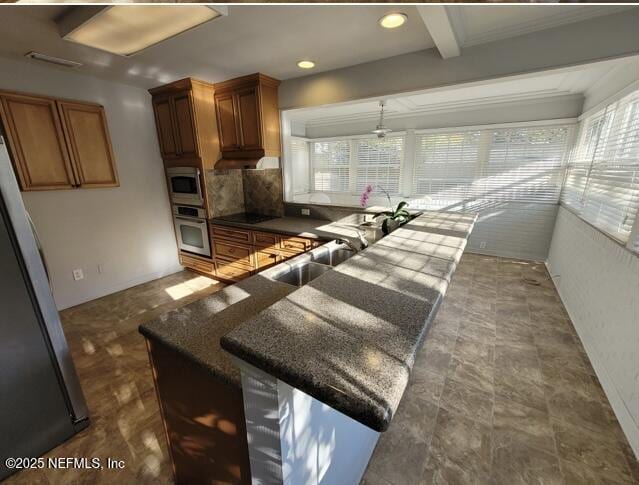
<svg viewBox="0 0 639 485">
<path fill-rule="evenodd" d="M 628 242 L 639 210 L 639 91 L 581 122 L 561 203 Z"/>
</svg>

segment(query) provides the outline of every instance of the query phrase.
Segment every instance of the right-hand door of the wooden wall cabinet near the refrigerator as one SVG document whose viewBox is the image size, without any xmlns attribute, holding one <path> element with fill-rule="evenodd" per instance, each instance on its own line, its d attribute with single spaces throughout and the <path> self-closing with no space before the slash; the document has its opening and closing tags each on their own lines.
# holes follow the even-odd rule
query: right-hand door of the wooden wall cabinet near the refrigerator
<svg viewBox="0 0 639 485">
<path fill-rule="evenodd" d="M 104 108 L 93 104 L 58 102 L 71 160 L 82 187 L 119 184 Z"/>
</svg>

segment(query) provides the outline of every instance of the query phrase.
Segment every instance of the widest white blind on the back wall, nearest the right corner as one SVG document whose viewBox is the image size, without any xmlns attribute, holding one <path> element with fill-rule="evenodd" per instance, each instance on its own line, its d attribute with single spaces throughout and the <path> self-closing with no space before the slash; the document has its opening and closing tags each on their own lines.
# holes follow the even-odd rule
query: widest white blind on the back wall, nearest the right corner
<svg viewBox="0 0 639 485">
<path fill-rule="evenodd" d="M 417 136 L 413 193 L 448 205 L 557 203 L 568 126 L 425 133 Z"/>
</svg>

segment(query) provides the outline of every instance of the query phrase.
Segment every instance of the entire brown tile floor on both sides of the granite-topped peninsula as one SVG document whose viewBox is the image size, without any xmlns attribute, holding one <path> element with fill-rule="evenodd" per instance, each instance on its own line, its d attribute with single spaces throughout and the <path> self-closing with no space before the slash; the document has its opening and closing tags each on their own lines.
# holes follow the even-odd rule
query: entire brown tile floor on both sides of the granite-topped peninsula
<svg viewBox="0 0 639 485">
<path fill-rule="evenodd" d="M 141 321 L 217 291 L 183 272 L 62 312 L 92 425 L 49 456 L 121 471 L 9 484 L 170 483 Z M 627 484 L 639 466 L 543 265 L 466 254 L 363 484 Z"/>
</svg>

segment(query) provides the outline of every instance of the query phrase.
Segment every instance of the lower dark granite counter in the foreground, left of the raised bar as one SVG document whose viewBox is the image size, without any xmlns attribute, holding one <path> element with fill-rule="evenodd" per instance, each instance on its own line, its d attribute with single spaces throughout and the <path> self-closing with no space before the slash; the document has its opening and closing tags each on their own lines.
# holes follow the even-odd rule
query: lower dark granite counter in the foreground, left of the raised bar
<svg viewBox="0 0 639 485">
<path fill-rule="evenodd" d="M 220 347 L 220 337 L 295 290 L 260 275 L 140 325 L 147 338 L 184 355 L 228 384 L 240 387 L 240 372 Z"/>
</svg>

